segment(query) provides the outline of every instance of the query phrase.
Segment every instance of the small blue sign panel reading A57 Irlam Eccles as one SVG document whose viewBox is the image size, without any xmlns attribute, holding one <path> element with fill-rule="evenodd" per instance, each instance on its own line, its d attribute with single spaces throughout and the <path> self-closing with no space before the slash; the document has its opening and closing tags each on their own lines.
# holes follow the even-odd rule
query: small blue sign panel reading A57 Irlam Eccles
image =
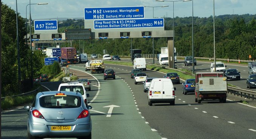
<svg viewBox="0 0 256 139">
<path fill-rule="evenodd" d="M 35 31 L 53 31 L 58 30 L 57 20 L 35 20 L 34 30 Z"/>
</svg>

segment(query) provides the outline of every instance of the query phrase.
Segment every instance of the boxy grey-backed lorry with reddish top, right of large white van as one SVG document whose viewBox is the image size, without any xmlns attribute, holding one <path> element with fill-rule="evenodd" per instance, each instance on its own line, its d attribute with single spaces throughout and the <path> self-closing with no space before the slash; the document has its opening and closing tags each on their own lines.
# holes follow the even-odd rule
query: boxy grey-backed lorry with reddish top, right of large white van
<svg viewBox="0 0 256 139">
<path fill-rule="evenodd" d="M 225 103 L 227 99 L 227 79 L 222 72 L 196 73 L 195 102 L 201 103 L 207 99 L 219 100 Z"/>
</svg>

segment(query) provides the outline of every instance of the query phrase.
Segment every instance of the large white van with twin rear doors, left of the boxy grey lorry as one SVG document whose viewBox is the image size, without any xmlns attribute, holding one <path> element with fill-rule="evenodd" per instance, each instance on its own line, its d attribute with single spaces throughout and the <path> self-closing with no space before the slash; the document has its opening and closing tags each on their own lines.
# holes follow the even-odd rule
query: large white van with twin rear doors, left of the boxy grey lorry
<svg viewBox="0 0 256 139">
<path fill-rule="evenodd" d="M 175 105 L 176 87 L 173 87 L 173 82 L 170 78 L 154 78 L 148 89 L 148 105 L 153 103 L 170 103 Z"/>
</svg>

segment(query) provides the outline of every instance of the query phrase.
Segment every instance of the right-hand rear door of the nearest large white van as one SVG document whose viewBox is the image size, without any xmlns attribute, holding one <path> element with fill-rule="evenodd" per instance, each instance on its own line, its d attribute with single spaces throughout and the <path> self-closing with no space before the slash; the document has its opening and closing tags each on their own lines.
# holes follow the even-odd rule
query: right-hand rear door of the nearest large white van
<svg viewBox="0 0 256 139">
<path fill-rule="evenodd" d="M 171 81 L 164 81 L 162 83 L 162 98 L 174 98 L 173 96 L 173 84 Z"/>
</svg>

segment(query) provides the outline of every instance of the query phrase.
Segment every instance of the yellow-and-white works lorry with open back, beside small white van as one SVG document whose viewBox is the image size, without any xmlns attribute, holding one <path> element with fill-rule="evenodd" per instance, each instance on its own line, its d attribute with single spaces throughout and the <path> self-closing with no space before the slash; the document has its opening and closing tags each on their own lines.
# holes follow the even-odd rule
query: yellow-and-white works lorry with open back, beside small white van
<svg viewBox="0 0 256 139">
<path fill-rule="evenodd" d="M 90 61 L 91 73 L 104 73 L 105 65 L 102 60 L 91 60 Z"/>
</svg>

